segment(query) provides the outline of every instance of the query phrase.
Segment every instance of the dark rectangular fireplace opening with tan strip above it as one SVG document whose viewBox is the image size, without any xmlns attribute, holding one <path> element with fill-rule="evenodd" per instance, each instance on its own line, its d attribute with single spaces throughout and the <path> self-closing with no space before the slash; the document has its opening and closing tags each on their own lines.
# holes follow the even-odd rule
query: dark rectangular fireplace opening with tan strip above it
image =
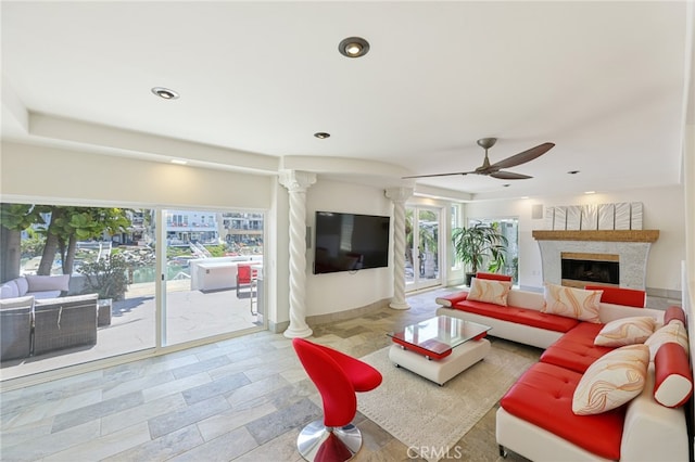
<svg viewBox="0 0 695 462">
<path fill-rule="evenodd" d="M 564 285 L 620 284 L 618 255 L 563 253 L 561 271 Z"/>
</svg>

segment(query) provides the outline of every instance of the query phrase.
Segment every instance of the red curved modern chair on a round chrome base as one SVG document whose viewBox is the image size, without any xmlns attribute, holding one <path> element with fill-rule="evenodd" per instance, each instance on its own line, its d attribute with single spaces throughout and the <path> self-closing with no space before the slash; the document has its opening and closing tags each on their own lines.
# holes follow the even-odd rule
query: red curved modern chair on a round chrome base
<svg viewBox="0 0 695 462">
<path fill-rule="evenodd" d="M 357 413 L 355 392 L 369 392 L 381 384 L 381 373 L 371 365 L 332 348 L 303 338 L 292 346 L 324 401 L 324 418 L 306 425 L 296 439 L 307 461 L 346 461 L 362 447 L 362 434 L 352 424 Z"/>
</svg>

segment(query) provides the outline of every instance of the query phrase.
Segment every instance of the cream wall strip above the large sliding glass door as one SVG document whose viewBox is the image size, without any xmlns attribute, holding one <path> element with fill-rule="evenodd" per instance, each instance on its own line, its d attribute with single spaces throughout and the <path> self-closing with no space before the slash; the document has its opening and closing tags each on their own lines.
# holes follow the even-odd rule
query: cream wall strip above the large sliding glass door
<svg viewBox="0 0 695 462">
<path fill-rule="evenodd" d="M 268 209 L 274 176 L 2 143 L 0 193 L 79 202 Z"/>
</svg>

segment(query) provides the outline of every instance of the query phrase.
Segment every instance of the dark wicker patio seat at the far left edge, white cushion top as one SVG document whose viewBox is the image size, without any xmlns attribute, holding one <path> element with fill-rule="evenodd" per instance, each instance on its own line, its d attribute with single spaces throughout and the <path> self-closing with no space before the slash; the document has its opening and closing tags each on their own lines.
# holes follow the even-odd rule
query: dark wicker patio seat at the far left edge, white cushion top
<svg viewBox="0 0 695 462">
<path fill-rule="evenodd" d="M 0 361 L 26 358 L 31 352 L 34 297 L 0 300 Z"/>
</svg>

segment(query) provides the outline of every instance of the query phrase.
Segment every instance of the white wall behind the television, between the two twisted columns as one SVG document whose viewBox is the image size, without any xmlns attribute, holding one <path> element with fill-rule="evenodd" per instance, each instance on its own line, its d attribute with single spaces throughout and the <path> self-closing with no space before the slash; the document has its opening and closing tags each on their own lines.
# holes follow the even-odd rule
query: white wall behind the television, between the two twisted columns
<svg viewBox="0 0 695 462">
<path fill-rule="evenodd" d="M 314 220 L 316 210 L 391 217 L 388 268 L 355 272 L 314 274 Z M 306 252 L 306 316 L 359 308 L 393 296 L 393 204 L 383 189 L 321 180 L 306 194 L 306 224 L 312 227 L 312 246 Z"/>
</svg>

